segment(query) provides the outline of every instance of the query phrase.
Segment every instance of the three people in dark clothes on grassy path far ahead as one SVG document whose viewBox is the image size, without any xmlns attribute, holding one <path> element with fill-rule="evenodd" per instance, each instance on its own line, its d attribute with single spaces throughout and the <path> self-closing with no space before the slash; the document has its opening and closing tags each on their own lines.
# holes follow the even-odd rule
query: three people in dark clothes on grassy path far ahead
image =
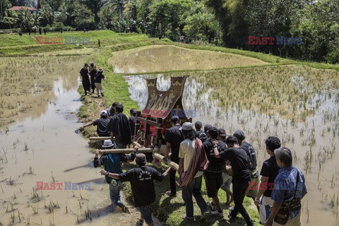
<svg viewBox="0 0 339 226">
<path fill-rule="evenodd" d="M 83 90 L 85 90 L 85 95 L 87 93 L 89 95 L 92 95 L 92 93 L 95 92 L 95 89 L 97 89 L 97 97 L 104 96 L 104 90 L 102 89 L 102 80 L 106 80 L 106 77 L 102 73 L 104 69 L 100 68 L 97 70 L 97 66 L 93 63 L 90 63 L 90 66 L 88 64 L 85 64 L 85 66 L 80 71 L 80 79 L 83 83 Z M 90 89 L 92 88 L 92 92 Z"/>
</svg>

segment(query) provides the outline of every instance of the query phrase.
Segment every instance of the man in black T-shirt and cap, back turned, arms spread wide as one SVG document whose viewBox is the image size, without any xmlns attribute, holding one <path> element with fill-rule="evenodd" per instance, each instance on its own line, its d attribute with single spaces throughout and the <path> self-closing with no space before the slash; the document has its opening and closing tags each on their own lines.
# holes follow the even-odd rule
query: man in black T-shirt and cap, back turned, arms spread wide
<svg viewBox="0 0 339 226">
<path fill-rule="evenodd" d="M 134 148 L 136 150 L 138 149 L 137 147 Z M 107 172 L 107 170 L 101 170 L 100 173 L 107 177 L 120 179 L 121 182 L 131 182 L 134 206 L 140 211 L 143 220 L 145 220 L 148 225 L 154 226 L 152 213 L 150 212 L 150 204 L 155 201 L 153 179 L 162 182 L 171 167 L 168 167 L 168 169 L 161 174 L 160 172 L 157 172 L 156 169 L 145 166 L 145 163 L 145 154 L 138 153 L 136 154 L 136 165 L 138 165 L 138 167 L 129 169 L 127 172 L 120 174 Z"/>
</svg>

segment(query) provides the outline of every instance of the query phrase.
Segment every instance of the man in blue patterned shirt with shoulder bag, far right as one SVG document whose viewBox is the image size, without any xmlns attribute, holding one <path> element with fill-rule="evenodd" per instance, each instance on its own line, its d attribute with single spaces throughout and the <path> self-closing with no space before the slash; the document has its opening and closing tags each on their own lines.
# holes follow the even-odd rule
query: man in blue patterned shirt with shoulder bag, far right
<svg viewBox="0 0 339 226">
<path fill-rule="evenodd" d="M 304 174 L 300 169 L 292 165 L 290 149 L 285 147 L 278 148 L 275 149 L 274 153 L 277 164 L 281 169 L 274 181 L 271 196 L 274 203 L 265 226 L 280 225 L 273 222 L 280 208 L 288 210 L 290 213 L 285 226 L 299 226 L 302 210 L 301 199 L 307 194 Z"/>
</svg>

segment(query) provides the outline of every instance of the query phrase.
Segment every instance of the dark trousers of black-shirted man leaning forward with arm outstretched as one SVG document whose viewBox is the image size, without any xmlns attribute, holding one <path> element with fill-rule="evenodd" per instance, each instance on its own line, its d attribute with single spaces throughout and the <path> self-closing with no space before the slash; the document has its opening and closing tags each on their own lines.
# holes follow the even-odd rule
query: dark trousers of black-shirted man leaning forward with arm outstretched
<svg viewBox="0 0 339 226">
<path fill-rule="evenodd" d="M 249 213 L 245 210 L 242 202 L 244 201 L 246 189 L 248 188 L 248 182 L 234 183 L 233 184 L 233 199 L 234 209 L 232 210 L 232 218 L 236 218 L 237 214 L 240 213 L 248 226 L 253 226 L 253 221 L 249 218 Z"/>
</svg>

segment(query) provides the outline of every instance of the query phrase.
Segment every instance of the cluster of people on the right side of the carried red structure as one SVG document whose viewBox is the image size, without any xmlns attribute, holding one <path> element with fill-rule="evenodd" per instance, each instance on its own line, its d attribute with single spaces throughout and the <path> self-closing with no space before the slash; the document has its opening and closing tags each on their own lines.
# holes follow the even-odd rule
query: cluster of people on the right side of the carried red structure
<svg viewBox="0 0 339 226">
<path fill-rule="evenodd" d="M 266 152 L 270 158 L 263 162 L 259 182 L 256 152 L 254 147 L 245 141 L 243 131 L 238 130 L 232 136 L 227 136 L 225 129 L 217 129 L 209 124 L 201 130 L 200 121 L 196 121 L 194 125 L 196 130 L 189 122 L 180 126 L 179 117 L 174 116 L 171 121 L 172 128 L 166 133 L 165 158 L 169 157 L 171 150 L 171 160 L 179 163 L 179 178 L 182 178 L 182 175 L 187 177 L 188 173 L 193 178 L 182 189 L 186 203 L 184 220 L 194 220 L 192 195 L 196 198 L 202 218 L 208 213 L 207 206 L 211 208 L 211 214 L 223 218 L 218 198 L 221 188 L 227 194 L 226 204 L 230 205 L 234 201 L 234 208 L 229 208 L 228 217 L 231 221 L 240 213 L 247 226 L 254 225 L 243 206 L 244 197 L 249 196 L 258 207 L 261 224 L 280 225 L 278 222 L 281 221 L 276 216 L 280 216 L 281 211 L 289 213 L 285 225 L 300 225 L 300 200 L 307 194 L 305 179 L 301 170 L 292 165 L 292 153 L 290 149 L 281 147 L 279 138 L 269 136 L 265 141 Z M 197 141 L 202 143 L 203 154 L 194 155 L 199 150 Z M 203 155 L 206 155 L 209 162 L 207 167 L 203 162 Z M 202 168 L 202 165 L 205 167 Z M 174 176 L 169 177 L 171 191 L 167 194 L 176 196 L 175 172 L 172 174 Z M 201 196 L 202 177 L 206 182 L 207 195 L 212 199 L 210 203 L 206 203 Z"/>
</svg>

